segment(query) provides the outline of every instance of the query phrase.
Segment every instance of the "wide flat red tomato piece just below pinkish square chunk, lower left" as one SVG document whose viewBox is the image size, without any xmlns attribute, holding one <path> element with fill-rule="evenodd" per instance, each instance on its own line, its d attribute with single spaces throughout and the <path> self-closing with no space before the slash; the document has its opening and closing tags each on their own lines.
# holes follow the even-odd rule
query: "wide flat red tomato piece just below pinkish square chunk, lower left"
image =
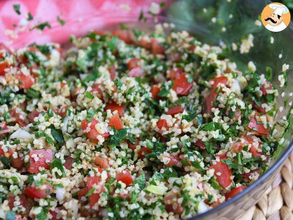
<svg viewBox="0 0 293 220">
<path fill-rule="evenodd" d="M 44 198 L 53 193 L 53 187 L 49 183 L 43 183 L 41 186 L 28 186 L 23 193 L 31 199 Z"/>
</svg>

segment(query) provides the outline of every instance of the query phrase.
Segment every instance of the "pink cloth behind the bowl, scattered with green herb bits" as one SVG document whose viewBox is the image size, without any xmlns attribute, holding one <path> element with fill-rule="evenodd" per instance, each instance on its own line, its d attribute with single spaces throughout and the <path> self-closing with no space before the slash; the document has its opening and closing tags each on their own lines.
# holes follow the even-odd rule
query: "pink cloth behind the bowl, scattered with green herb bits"
<svg viewBox="0 0 293 220">
<path fill-rule="evenodd" d="M 68 41 L 71 34 L 81 36 L 89 30 L 111 24 L 136 21 L 141 10 L 149 10 L 151 2 L 161 1 L 163 0 L 1 0 L 0 42 L 14 49 L 33 42 L 63 43 Z M 21 15 L 14 11 L 14 4 L 21 5 Z M 34 19 L 28 21 L 28 26 L 23 31 L 19 23 L 21 18 L 27 19 L 28 12 Z M 57 22 L 57 16 L 66 22 L 65 25 Z M 38 29 L 29 31 L 29 27 L 46 21 L 50 23 L 51 29 L 45 27 L 42 33 Z M 13 24 L 17 24 L 17 27 L 13 27 Z M 10 35 L 7 29 L 16 30 L 18 37 Z"/>
</svg>

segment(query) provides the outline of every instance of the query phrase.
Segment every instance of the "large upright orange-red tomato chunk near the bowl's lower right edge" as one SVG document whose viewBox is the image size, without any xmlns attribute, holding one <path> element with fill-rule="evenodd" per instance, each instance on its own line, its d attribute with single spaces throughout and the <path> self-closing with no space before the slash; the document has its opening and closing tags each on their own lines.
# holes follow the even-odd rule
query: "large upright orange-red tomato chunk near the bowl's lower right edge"
<svg viewBox="0 0 293 220">
<path fill-rule="evenodd" d="M 231 175 L 232 171 L 229 169 L 229 166 L 222 161 L 217 162 L 216 164 L 212 164 L 210 169 L 214 169 L 214 175 L 216 177 L 217 182 L 224 188 L 228 187 L 232 180 Z M 220 175 L 218 175 L 220 173 Z"/>
</svg>

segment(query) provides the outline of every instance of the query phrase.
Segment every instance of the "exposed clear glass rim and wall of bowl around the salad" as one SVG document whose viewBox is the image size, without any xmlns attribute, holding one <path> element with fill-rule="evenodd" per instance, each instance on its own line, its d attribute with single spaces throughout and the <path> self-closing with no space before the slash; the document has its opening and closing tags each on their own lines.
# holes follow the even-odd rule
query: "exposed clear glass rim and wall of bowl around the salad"
<svg viewBox="0 0 293 220">
<path fill-rule="evenodd" d="M 66 30 L 66 33 L 62 33 L 63 28 L 61 26 L 52 26 L 39 38 L 32 38 L 31 33 L 28 33 L 17 40 L 14 47 L 17 48 L 18 45 L 30 44 L 35 41 L 39 44 L 46 43 L 47 39 L 50 38 L 45 35 L 50 34 L 55 35 L 55 42 L 63 44 L 68 42 L 71 34 L 82 36 L 91 30 L 113 30 L 119 28 L 118 24 L 121 22 L 126 23 L 130 28 L 140 28 L 146 31 L 153 30 L 154 24 L 157 22 L 172 22 L 176 25 L 176 29 L 187 30 L 203 43 L 220 44 L 224 48 L 226 45 L 225 54 L 229 55 L 230 59 L 236 62 L 241 70 L 247 68 L 249 61 L 255 64 L 256 72 L 259 74 L 266 73 L 267 66 L 270 66 L 272 68 L 271 82 L 280 90 L 284 90 L 284 88 L 279 87 L 278 75 L 282 74 L 283 64 L 289 64 L 290 68 L 286 71 L 289 86 L 284 90 L 284 97 L 281 95 L 277 97 L 277 107 L 280 107 L 284 106 L 285 99 L 288 99 L 288 103 L 292 101 L 289 93 L 292 92 L 292 86 L 290 85 L 293 83 L 293 24 L 291 23 L 281 32 L 270 32 L 262 24 L 256 25 L 255 21 L 259 19 L 262 9 L 268 3 L 269 1 L 265 0 L 234 0 L 231 2 L 228 0 L 173 0 L 167 3 L 163 16 L 159 16 L 157 19 L 148 18 L 147 22 L 138 22 L 138 14 L 129 17 L 129 15 L 123 13 L 119 15 L 103 13 L 102 15 L 97 11 L 90 16 L 88 14 L 82 16 L 83 22 L 67 22 L 66 25 L 70 28 Z M 107 22 L 101 24 L 99 16 L 103 16 L 103 21 Z M 212 18 L 215 18 L 216 22 L 212 22 Z M 85 23 L 86 25 L 84 25 Z M 231 50 L 232 43 L 239 44 L 241 39 L 249 34 L 254 37 L 254 46 L 249 53 L 241 54 L 239 49 L 237 51 Z M 279 54 L 282 54 L 282 58 L 279 58 Z M 287 104 L 283 111 L 278 112 L 276 120 L 287 115 L 288 111 L 289 105 Z M 266 173 L 235 197 L 189 220 L 234 220 L 239 218 L 256 204 L 269 188 L 292 150 L 293 131 L 291 129 L 285 136 L 284 147 Z"/>
</svg>

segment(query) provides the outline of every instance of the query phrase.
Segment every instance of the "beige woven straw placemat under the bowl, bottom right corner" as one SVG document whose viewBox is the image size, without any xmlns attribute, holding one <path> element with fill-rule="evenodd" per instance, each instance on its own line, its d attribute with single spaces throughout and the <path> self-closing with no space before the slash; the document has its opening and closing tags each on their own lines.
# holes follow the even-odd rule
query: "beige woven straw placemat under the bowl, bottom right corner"
<svg viewBox="0 0 293 220">
<path fill-rule="evenodd" d="M 259 202 L 238 220 L 293 220 L 293 153 Z"/>
</svg>

